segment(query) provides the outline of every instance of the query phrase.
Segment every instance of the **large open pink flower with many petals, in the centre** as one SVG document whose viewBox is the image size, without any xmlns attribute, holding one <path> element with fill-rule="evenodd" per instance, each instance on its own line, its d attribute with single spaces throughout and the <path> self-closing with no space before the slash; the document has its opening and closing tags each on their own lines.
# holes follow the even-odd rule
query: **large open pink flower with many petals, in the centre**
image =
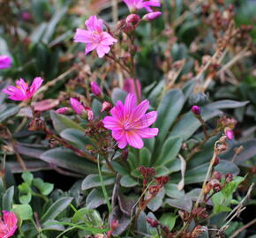
<svg viewBox="0 0 256 238">
<path fill-rule="evenodd" d="M 127 144 L 141 149 L 144 146 L 141 138 L 153 138 L 158 134 L 157 128 L 148 128 L 157 117 L 156 111 L 146 114 L 148 107 L 148 100 L 143 100 L 137 106 L 135 96 L 129 93 L 125 103 L 118 100 L 117 105 L 110 110 L 112 116 L 103 119 L 104 127 L 112 130 L 112 137 L 117 140 L 120 149 Z"/>
</svg>

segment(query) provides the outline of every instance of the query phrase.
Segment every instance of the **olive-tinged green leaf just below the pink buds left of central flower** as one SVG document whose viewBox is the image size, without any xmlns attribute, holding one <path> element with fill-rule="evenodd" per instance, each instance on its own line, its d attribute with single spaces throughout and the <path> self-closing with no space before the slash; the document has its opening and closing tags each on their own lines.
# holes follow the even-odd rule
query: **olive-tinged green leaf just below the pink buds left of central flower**
<svg viewBox="0 0 256 238">
<path fill-rule="evenodd" d="M 61 115 L 56 113 L 55 111 L 50 111 L 50 118 L 52 120 L 54 129 L 57 133 L 61 133 L 63 130 L 67 128 L 77 129 L 84 131 L 84 129 L 78 124 L 72 121 L 68 116 Z"/>
</svg>

